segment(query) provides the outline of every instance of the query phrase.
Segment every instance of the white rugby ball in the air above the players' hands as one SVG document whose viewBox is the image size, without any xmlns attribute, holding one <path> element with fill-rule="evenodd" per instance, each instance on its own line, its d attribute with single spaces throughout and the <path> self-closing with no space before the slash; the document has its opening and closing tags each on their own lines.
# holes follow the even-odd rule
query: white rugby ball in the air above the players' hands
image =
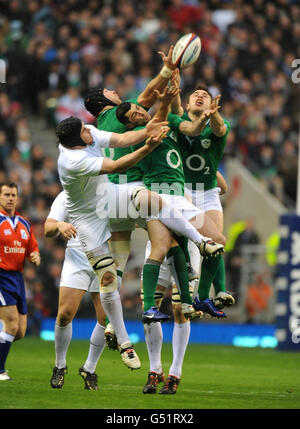
<svg viewBox="0 0 300 429">
<path fill-rule="evenodd" d="M 180 69 L 194 64 L 201 52 L 201 40 L 195 33 L 182 36 L 174 46 L 172 61 Z"/>
</svg>

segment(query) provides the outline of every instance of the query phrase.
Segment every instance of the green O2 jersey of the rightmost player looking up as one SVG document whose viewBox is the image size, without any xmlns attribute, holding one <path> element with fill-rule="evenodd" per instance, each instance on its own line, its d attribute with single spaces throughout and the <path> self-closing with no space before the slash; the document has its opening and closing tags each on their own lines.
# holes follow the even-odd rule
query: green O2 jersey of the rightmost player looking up
<svg viewBox="0 0 300 429">
<path fill-rule="evenodd" d="M 205 191 L 215 188 L 217 186 L 216 174 L 223 156 L 230 123 L 224 120 L 227 131 L 223 137 L 213 134 L 209 121 L 199 136 L 189 137 L 182 134 L 179 128 L 182 122 L 191 121 L 186 113 L 182 117 L 170 113 L 168 121 L 171 130 L 177 134 L 185 182 L 195 190 L 197 184 L 200 183 L 204 185 Z"/>
</svg>

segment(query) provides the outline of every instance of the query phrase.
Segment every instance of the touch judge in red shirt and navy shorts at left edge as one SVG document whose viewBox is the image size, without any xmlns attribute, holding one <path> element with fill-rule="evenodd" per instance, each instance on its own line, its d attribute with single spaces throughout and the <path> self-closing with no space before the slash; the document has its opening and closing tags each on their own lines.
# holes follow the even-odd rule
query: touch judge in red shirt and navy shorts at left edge
<svg viewBox="0 0 300 429">
<path fill-rule="evenodd" d="M 23 268 L 28 258 L 40 265 L 38 243 L 30 222 L 16 212 L 18 187 L 0 184 L 0 381 L 10 380 L 5 362 L 13 341 L 24 337 L 27 305 Z"/>
</svg>

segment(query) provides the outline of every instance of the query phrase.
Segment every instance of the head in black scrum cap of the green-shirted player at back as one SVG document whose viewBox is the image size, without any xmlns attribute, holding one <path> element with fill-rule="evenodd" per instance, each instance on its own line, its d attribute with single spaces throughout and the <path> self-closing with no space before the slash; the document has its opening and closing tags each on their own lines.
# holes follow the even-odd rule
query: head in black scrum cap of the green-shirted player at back
<svg viewBox="0 0 300 429">
<path fill-rule="evenodd" d="M 116 91 L 101 87 L 89 89 L 84 99 L 86 110 L 96 118 L 102 112 L 104 107 L 118 106 L 120 103 L 122 103 L 122 100 Z"/>
</svg>

